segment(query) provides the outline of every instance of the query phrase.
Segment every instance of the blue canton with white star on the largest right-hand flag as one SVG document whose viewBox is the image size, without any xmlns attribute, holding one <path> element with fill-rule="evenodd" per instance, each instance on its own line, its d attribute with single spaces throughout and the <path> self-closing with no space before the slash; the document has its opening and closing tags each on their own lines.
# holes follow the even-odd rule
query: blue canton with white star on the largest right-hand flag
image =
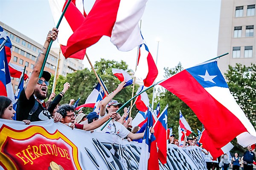
<svg viewBox="0 0 256 170">
<path fill-rule="evenodd" d="M 227 82 L 218 68 L 217 61 L 186 69 L 204 88 L 214 86 L 228 88 Z"/>
</svg>

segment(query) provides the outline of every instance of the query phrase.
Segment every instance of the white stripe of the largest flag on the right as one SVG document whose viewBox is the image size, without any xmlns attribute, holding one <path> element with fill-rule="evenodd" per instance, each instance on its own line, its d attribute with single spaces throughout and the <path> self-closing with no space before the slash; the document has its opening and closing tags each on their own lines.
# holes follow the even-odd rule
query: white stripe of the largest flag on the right
<svg viewBox="0 0 256 170">
<path fill-rule="evenodd" d="M 244 125 L 244 127 L 248 130 L 248 132 L 256 136 L 256 131 L 253 125 L 245 116 L 242 109 L 236 103 L 236 100 L 230 93 L 229 88 L 221 88 L 221 87 L 211 87 L 205 88 L 205 90 L 218 102 L 220 102 L 225 108 L 227 108 L 231 113 L 233 113 Z"/>
</svg>

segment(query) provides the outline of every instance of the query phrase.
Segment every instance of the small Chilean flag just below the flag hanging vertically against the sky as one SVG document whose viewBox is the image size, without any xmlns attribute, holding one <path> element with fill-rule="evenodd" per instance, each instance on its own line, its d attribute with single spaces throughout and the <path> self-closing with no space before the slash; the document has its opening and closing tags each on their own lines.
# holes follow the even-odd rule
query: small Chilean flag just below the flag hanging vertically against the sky
<svg viewBox="0 0 256 170">
<path fill-rule="evenodd" d="M 141 85 L 138 91 L 136 92 L 136 95 L 139 94 L 141 91 L 143 91 L 144 90 L 143 88 L 144 88 L 144 85 Z M 143 92 L 142 94 L 137 96 L 135 104 L 136 104 L 136 108 L 139 111 L 143 111 L 143 112 L 147 111 L 149 106 L 148 94 L 146 92 Z"/>
</svg>

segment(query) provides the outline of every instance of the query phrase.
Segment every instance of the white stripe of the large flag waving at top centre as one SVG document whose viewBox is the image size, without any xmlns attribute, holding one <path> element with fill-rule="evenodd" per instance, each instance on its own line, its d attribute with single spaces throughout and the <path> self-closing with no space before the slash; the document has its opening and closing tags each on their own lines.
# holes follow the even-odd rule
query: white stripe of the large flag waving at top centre
<svg viewBox="0 0 256 170">
<path fill-rule="evenodd" d="M 129 51 L 143 43 L 139 21 L 147 0 L 120 0 L 111 42 L 120 51 Z M 126 40 L 126 41 L 125 41 Z"/>
</svg>

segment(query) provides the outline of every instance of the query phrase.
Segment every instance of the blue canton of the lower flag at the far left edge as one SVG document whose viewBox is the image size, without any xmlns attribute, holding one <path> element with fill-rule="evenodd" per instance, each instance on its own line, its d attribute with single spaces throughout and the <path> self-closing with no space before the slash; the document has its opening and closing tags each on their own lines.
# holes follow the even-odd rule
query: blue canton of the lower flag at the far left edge
<svg viewBox="0 0 256 170">
<path fill-rule="evenodd" d="M 0 81 L 6 87 L 7 84 L 11 82 L 10 72 L 8 68 L 8 62 L 6 58 L 5 49 L 2 48 L 0 51 Z M 3 89 L 1 89 L 3 90 Z"/>
</svg>

